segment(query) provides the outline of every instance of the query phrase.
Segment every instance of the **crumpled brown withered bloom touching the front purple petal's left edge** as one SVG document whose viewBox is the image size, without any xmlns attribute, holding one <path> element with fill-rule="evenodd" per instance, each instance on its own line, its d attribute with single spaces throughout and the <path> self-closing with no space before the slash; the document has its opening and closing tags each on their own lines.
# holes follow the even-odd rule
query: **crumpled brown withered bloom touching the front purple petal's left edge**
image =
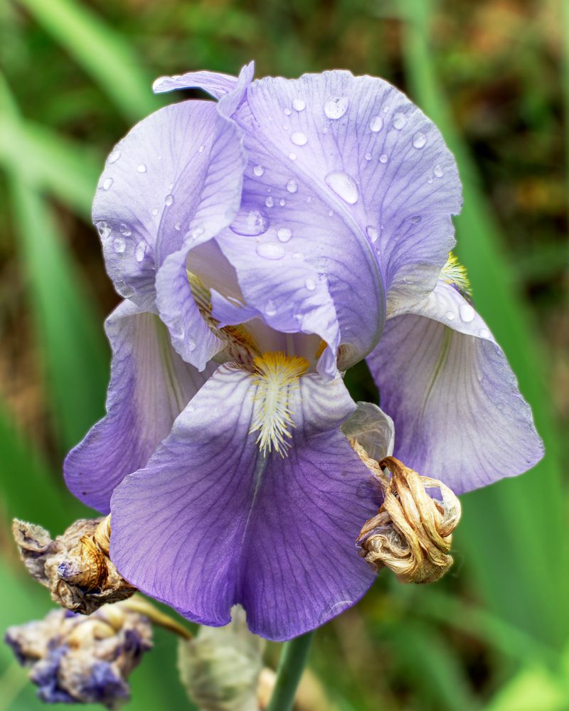
<svg viewBox="0 0 569 711">
<path fill-rule="evenodd" d="M 15 518 L 12 533 L 31 576 L 69 610 L 90 614 L 136 592 L 108 557 L 110 516 L 75 521 L 55 540 L 45 528 Z"/>
</svg>

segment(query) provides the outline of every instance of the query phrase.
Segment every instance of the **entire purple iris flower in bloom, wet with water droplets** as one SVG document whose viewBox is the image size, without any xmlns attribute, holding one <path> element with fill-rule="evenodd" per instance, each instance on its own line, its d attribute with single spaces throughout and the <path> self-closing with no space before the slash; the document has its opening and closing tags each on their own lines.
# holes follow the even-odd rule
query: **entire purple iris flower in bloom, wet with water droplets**
<svg viewBox="0 0 569 711">
<path fill-rule="evenodd" d="M 374 77 L 252 73 L 157 80 L 217 102 L 160 109 L 107 159 L 93 220 L 125 300 L 107 415 L 65 477 L 111 511 L 129 582 L 203 624 L 240 603 L 282 640 L 373 582 L 355 540 L 378 495 L 347 435 L 381 459 L 393 430 L 351 365 L 395 455 L 457 493 L 543 452 L 447 262 L 461 189 L 435 125 Z"/>
</svg>

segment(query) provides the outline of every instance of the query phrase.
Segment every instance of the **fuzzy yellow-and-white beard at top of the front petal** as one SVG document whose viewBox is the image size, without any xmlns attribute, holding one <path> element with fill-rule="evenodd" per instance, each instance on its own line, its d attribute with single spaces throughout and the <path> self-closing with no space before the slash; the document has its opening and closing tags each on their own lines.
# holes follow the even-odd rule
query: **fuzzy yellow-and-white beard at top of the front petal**
<svg viewBox="0 0 569 711">
<path fill-rule="evenodd" d="M 257 407 L 250 433 L 259 432 L 257 444 L 262 454 L 275 449 L 281 456 L 287 456 L 290 428 L 294 427 L 290 392 L 298 387 L 299 377 L 309 368 L 309 362 L 297 355 L 263 353 L 253 359 L 253 368 Z"/>
</svg>

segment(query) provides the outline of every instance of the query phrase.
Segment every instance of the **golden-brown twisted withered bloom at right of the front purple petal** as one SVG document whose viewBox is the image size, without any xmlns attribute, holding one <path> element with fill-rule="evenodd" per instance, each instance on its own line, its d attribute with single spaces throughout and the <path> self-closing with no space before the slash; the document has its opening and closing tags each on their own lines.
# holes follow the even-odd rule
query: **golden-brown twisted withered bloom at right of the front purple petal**
<svg viewBox="0 0 569 711">
<path fill-rule="evenodd" d="M 358 442 L 352 446 L 380 481 L 384 496 L 378 514 L 361 529 L 361 555 L 377 570 L 393 570 L 401 582 L 440 579 L 454 562 L 449 551 L 460 520 L 458 498 L 438 479 L 420 476 L 393 456 L 377 462 Z M 390 479 L 383 468 L 391 472 Z M 427 488 L 437 488 L 442 501 Z"/>
</svg>

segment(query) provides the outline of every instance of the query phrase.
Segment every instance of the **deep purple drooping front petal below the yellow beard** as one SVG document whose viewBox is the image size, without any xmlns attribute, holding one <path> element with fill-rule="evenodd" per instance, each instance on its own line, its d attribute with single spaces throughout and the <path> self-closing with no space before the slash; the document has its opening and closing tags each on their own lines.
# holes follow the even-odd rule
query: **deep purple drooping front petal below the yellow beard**
<svg viewBox="0 0 569 711">
<path fill-rule="evenodd" d="M 111 556 L 189 619 L 223 625 L 240 603 L 252 631 L 282 640 L 366 592 L 373 572 L 354 541 L 377 501 L 358 488 L 370 474 L 339 429 L 355 408 L 340 379 L 312 373 L 289 387 L 286 457 L 255 442 L 259 387 L 254 374 L 218 368 L 115 490 Z"/>
</svg>

